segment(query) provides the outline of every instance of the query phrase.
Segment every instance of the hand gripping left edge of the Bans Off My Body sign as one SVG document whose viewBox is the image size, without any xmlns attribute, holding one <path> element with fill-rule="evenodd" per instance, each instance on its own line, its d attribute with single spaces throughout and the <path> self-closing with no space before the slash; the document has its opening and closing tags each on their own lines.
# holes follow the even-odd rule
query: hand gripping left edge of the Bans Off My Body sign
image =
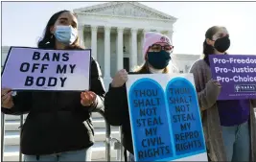
<svg viewBox="0 0 256 162">
<path fill-rule="evenodd" d="M 12 102 L 12 90 L 9 88 L 3 88 L 1 89 L 1 98 L 2 98 L 2 107 L 5 108 L 12 108 L 13 102 Z"/>
</svg>

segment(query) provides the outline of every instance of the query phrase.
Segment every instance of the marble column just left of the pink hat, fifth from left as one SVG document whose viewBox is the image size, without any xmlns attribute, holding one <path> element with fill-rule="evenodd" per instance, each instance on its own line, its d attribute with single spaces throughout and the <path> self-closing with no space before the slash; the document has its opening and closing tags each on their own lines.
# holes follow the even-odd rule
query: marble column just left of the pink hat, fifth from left
<svg viewBox="0 0 256 162">
<path fill-rule="evenodd" d="M 137 29 L 132 28 L 131 32 L 131 46 L 130 46 L 130 61 L 129 69 L 132 70 L 137 64 Z"/>
</svg>

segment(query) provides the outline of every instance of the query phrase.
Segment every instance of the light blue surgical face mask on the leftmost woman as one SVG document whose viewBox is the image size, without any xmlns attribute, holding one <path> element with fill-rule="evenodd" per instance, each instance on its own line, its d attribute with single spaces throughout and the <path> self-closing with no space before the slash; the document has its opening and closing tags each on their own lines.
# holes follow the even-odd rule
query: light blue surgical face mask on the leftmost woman
<svg viewBox="0 0 256 162">
<path fill-rule="evenodd" d="M 77 39 L 77 31 L 71 26 L 57 26 L 54 33 L 57 40 L 63 44 L 73 44 Z"/>
</svg>

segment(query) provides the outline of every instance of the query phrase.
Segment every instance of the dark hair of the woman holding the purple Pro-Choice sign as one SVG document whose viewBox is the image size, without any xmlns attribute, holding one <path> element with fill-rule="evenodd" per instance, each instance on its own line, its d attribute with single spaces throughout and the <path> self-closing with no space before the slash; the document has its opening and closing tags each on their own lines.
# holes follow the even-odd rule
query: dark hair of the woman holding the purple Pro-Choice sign
<svg viewBox="0 0 256 162">
<path fill-rule="evenodd" d="M 214 54 L 214 47 L 207 44 L 206 39 L 209 38 L 212 40 L 213 35 L 215 35 L 219 30 L 220 30 L 219 26 L 213 26 L 213 27 L 209 28 L 205 33 L 205 39 L 203 42 L 203 54 L 204 54 L 203 59 L 208 65 L 210 65 L 209 55 Z"/>
</svg>

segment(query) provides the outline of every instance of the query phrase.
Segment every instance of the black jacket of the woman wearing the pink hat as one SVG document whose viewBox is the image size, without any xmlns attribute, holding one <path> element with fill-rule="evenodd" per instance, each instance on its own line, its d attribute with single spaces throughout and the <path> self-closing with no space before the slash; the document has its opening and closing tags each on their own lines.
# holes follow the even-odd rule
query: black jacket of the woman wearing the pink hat
<svg viewBox="0 0 256 162">
<path fill-rule="evenodd" d="M 129 74 L 136 75 L 138 73 Z M 122 126 L 123 146 L 133 154 L 126 84 L 117 88 L 112 87 L 111 83 L 109 84 L 109 90 L 105 94 L 105 118 L 111 126 Z"/>
</svg>

